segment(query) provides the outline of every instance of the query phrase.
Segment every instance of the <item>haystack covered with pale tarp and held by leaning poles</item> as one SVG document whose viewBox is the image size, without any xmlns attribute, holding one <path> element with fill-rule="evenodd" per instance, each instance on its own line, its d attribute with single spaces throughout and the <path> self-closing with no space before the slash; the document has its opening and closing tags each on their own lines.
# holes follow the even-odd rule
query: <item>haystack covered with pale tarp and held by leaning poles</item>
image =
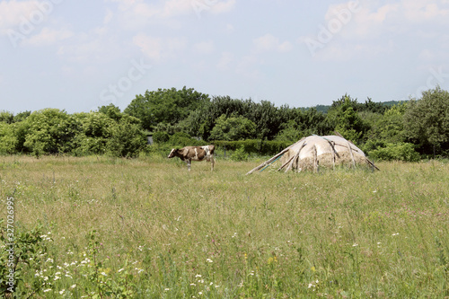
<svg viewBox="0 0 449 299">
<path fill-rule="evenodd" d="M 267 168 L 270 164 L 280 160 L 277 171 L 318 171 L 319 167 L 334 168 L 337 165 L 369 165 L 378 170 L 374 163 L 369 161 L 364 152 L 356 145 L 342 136 L 308 136 L 288 146 L 279 154 L 258 167 L 249 171 Z"/>
</svg>

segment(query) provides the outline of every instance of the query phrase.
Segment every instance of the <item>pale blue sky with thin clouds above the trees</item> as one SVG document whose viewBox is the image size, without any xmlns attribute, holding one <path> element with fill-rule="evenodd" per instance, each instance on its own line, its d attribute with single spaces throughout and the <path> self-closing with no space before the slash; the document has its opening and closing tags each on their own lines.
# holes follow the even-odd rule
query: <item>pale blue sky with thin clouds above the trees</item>
<svg viewBox="0 0 449 299">
<path fill-rule="evenodd" d="M 330 105 L 449 90 L 449 0 L 0 0 L 0 111 L 136 94 Z"/>
</svg>

